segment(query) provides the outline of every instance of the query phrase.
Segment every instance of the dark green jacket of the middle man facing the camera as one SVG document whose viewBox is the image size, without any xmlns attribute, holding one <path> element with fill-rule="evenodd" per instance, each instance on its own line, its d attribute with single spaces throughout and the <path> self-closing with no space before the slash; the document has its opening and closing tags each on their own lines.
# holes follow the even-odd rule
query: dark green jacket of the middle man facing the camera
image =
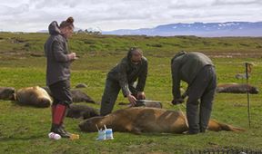
<svg viewBox="0 0 262 154">
<path fill-rule="evenodd" d="M 127 57 L 123 58 L 110 72 L 107 74 L 107 78 L 119 83 L 123 94 L 127 96 L 130 94 L 128 88 L 129 85 L 133 85 L 138 79 L 136 84 L 137 91 L 144 91 L 147 77 L 147 60 L 146 57 L 142 57 L 142 61 L 139 64 L 131 63 Z"/>
</svg>

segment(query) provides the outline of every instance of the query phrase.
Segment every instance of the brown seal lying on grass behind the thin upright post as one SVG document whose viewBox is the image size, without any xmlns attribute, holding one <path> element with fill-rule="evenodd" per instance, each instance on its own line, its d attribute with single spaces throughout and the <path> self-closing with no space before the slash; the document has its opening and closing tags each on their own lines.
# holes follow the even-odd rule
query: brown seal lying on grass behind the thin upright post
<svg viewBox="0 0 262 154">
<path fill-rule="evenodd" d="M 217 92 L 227 92 L 227 93 L 247 93 L 257 94 L 258 89 L 249 84 L 238 84 L 238 83 L 226 83 L 217 85 Z"/>
</svg>

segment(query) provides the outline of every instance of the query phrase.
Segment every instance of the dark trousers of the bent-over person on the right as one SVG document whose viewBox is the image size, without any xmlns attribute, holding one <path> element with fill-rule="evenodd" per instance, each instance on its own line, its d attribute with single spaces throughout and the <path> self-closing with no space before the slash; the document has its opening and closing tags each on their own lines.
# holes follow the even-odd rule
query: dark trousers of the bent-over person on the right
<svg viewBox="0 0 262 154">
<path fill-rule="evenodd" d="M 186 118 L 188 120 L 189 132 L 197 133 L 207 130 L 216 87 L 217 75 L 215 68 L 210 65 L 203 67 L 197 73 L 194 82 L 189 85 L 186 102 Z"/>
</svg>

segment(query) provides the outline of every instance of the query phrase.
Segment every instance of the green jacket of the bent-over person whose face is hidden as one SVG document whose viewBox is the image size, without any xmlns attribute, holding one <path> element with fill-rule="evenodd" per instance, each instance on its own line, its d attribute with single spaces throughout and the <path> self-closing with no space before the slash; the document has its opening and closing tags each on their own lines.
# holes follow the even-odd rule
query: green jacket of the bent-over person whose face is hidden
<svg viewBox="0 0 262 154">
<path fill-rule="evenodd" d="M 196 78 L 197 73 L 206 65 L 213 65 L 212 61 L 203 53 L 176 53 L 171 60 L 171 72 L 173 80 L 174 99 L 181 98 L 180 81 L 190 84 Z"/>
</svg>

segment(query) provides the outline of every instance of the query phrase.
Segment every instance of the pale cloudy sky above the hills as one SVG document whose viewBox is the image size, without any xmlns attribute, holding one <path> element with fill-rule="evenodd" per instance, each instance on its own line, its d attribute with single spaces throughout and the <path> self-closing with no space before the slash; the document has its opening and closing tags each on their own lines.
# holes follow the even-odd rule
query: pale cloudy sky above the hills
<svg viewBox="0 0 262 154">
<path fill-rule="evenodd" d="M 68 16 L 102 31 L 159 24 L 262 21 L 262 0 L 0 0 L 0 31 L 36 32 Z"/>
</svg>

